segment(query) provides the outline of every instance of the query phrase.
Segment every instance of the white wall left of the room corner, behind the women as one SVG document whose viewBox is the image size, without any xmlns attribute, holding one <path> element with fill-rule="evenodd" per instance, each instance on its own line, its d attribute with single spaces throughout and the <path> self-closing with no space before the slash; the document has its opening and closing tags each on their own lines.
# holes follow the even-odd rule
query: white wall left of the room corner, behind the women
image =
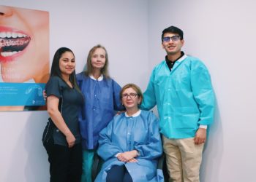
<svg viewBox="0 0 256 182">
<path fill-rule="evenodd" d="M 110 75 L 119 84 L 146 87 L 146 0 L 1 0 L 0 4 L 50 12 L 50 59 L 59 47 L 69 47 L 80 72 L 91 47 L 100 43 L 108 50 Z M 0 113 L 0 182 L 49 181 L 48 156 L 41 142 L 47 121 L 46 111 Z"/>
</svg>

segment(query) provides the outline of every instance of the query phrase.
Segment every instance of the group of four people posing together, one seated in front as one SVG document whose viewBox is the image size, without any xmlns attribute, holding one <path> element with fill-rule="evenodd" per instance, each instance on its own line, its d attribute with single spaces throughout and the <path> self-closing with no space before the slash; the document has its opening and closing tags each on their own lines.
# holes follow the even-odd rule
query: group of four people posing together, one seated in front
<svg viewBox="0 0 256 182">
<path fill-rule="evenodd" d="M 162 149 L 170 180 L 199 181 L 215 98 L 206 66 L 182 52 L 183 45 L 180 28 L 162 31 L 167 55 L 144 93 L 110 78 L 101 45 L 89 51 L 86 71 L 77 75 L 72 50 L 56 51 L 45 87 L 50 118 L 42 137 L 51 182 L 90 182 L 96 152 L 104 163 L 95 181 L 164 181 L 157 170 Z M 159 119 L 148 111 L 154 106 Z"/>
</svg>

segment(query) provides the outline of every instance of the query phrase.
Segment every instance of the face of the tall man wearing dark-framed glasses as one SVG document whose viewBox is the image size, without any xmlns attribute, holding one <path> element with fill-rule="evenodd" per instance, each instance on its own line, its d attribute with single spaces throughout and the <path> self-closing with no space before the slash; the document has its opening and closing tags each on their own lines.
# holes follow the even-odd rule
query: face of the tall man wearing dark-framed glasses
<svg viewBox="0 0 256 182">
<path fill-rule="evenodd" d="M 163 38 L 165 37 L 173 37 L 178 36 L 176 33 L 165 33 Z M 178 40 L 172 40 L 169 41 L 162 41 L 162 48 L 165 49 L 167 55 L 179 55 L 181 52 L 181 47 L 184 44 L 184 40 L 178 39 Z"/>
</svg>

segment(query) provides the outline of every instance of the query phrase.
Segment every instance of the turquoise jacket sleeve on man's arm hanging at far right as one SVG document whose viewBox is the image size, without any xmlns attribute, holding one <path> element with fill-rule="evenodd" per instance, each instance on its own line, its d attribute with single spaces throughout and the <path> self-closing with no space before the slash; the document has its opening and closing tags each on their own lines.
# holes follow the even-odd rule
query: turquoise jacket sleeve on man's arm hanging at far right
<svg viewBox="0 0 256 182">
<path fill-rule="evenodd" d="M 198 61 L 192 62 L 191 86 L 200 110 L 198 124 L 208 125 L 214 121 L 215 95 L 211 86 L 211 76 L 206 66 Z"/>
</svg>

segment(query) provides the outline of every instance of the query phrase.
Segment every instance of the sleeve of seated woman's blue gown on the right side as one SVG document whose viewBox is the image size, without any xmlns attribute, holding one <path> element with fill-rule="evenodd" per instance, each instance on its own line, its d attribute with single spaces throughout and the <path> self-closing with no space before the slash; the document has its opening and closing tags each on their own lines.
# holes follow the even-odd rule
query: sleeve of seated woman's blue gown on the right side
<svg viewBox="0 0 256 182">
<path fill-rule="evenodd" d="M 148 118 L 148 141 L 146 143 L 136 143 L 135 150 L 138 151 L 138 158 L 156 159 L 162 154 L 162 141 L 159 133 L 159 120 L 153 113 Z"/>
</svg>

